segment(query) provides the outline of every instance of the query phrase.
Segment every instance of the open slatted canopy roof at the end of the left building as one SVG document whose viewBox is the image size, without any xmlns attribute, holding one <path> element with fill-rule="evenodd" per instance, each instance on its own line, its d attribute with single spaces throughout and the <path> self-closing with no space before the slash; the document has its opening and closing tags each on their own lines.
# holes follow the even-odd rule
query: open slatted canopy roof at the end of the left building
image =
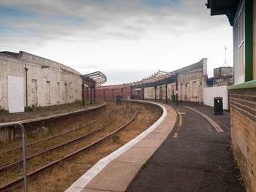
<svg viewBox="0 0 256 192">
<path fill-rule="evenodd" d="M 81 75 L 83 79 L 83 84 L 91 85 L 92 87 L 96 87 L 102 85 L 107 82 L 107 77 L 102 72 L 92 72 L 89 74 Z"/>
</svg>

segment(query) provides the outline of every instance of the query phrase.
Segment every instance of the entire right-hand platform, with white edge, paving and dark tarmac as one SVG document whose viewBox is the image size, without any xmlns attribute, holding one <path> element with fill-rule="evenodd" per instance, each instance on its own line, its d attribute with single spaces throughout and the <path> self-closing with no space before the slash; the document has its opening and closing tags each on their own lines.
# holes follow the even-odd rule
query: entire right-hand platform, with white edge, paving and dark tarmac
<svg viewBox="0 0 256 192">
<path fill-rule="evenodd" d="M 102 158 L 66 192 L 243 192 L 230 148 L 230 114 L 199 104 L 161 104 L 162 117 Z"/>
</svg>

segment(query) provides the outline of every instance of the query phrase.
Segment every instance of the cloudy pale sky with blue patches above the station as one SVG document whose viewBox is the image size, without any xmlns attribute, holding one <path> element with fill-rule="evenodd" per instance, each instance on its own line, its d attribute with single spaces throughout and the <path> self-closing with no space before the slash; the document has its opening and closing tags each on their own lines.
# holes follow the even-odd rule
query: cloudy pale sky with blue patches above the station
<svg viewBox="0 0 256 192">
<path fill-rule="evenodd" d="M 49 58 L 105 85 L 166 72 L 208 58 L 208 76 L 233 64 L 227 17 L 206 0 L 0 0 L 0 50 Z"/>
</svg>

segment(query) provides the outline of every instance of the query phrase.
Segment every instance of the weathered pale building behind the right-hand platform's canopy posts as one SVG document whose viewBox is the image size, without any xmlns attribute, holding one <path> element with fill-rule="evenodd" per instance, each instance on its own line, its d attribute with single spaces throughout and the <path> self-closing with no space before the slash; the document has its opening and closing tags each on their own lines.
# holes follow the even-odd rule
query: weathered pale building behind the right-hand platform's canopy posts
<svg viewBox="0 0 256 192">
<path fill-rule="evenodd" d="M 207 59 L 170 72 L 178 77 L 178 101 L 203 103 L 203 88 L 206 87 Z M 167 85 L 167 99 L 176 95 L 176 82 Z M 145 88 L 145 99 L 154 99 L 154 87 Z M 165 99 L 165 85 L 157 86 L 157 99 Z"/>
</svg>

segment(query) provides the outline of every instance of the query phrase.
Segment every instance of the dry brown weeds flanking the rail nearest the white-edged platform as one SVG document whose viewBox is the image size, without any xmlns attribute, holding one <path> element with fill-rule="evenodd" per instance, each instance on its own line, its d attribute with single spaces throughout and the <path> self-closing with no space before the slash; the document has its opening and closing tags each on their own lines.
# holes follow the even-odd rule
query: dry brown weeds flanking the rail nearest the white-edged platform
<svg viewBox="0 0 256 192">
<path fill-rule="evenodd" d="M 69 162 L 62 162 L 56 168 L 51 169 L 50 172 L 37 178 L 37 180 L 29 181 L 29 191 L 64 191 L 101 158 L 112 153 L 118 147 L 121 147 L 129 142 L 129 140 L 135 138 L 142 131 L 146 130 L 146 128 L 151 126 L 161 114 L 160 110 L 157 108 L 147 105 L 132 104 L 132 107 L 138 111 L 138 116 L 135 118 L 134 122 L 127 126 L 127 128 L 124 128 L 123 131 L 118 133 L 120 139 L 113 142 L 113 139 L 110 137 L 99 145 L 92 147 L 91 150 L 80 154 L 78 158 Z M 129 112 L 129 116 L 126 113 L 127 112 L 124 111 L 118 120 L 108 125 L 108 128 L 101 131 L 99 134 L 94 134 L 92 137 L 76 142 L 74 145 L 64 147 L 64 149 L 56 150 L 51 154 L 49 153 L 48 155 L 45 155 L 43 158 L 35 158 L 33 161 L 29 162 L 29 169 L 37 169 L 43 164 L 48 164 L 50 161 L 64 156 L 64 154 L 78 150 L 81 146 L 86 146 L 103 135 L 110 133 L 126 123 L 133 115 L 132 112 Z M 21 171 L 22 169 L 20 169 L 20 172 Z M 9 174 L 9 177 L 14 176 Z M 18 191 L 22 191 L 22 189 L 18 189 Z"/>
</svg>

